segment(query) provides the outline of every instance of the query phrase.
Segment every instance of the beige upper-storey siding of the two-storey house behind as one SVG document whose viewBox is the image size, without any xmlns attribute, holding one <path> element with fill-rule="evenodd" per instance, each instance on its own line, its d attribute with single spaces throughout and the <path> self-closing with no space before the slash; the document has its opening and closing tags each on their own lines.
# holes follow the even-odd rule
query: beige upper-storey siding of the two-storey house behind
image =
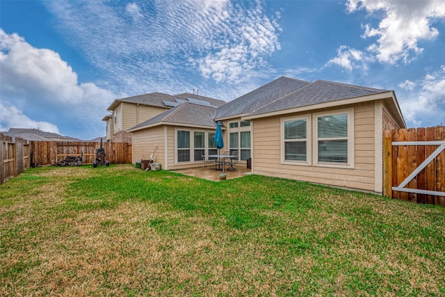
<svg viewBox="0 0 445 297">
<path fill-rule="evenodd" d="M 153 118 L 167 109 L 154 106 L 122 103 L 122 129 L 127 131 L 132 127 Z"/>
</svg>

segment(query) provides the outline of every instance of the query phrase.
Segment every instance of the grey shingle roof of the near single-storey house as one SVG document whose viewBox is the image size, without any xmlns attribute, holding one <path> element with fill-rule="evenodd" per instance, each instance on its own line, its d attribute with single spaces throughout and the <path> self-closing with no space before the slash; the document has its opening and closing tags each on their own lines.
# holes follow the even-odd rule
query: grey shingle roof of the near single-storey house
<svg viewBox="0 0 445 297">
<path fill-rule="evenodd" d="M 154 125 L 159 122 L 170 122 L 175 125 L 199 125 L 202 127 L 216 127 L 214 119 L 236 117 L 237 115 L 261 115 L 275 111 L 285 111 L 302 106 L 311 106 L 324 102 L 332 102 L 341 99 L 349 99 L 386 93 L 389 90 L 380 90 L 377 88 L 368 88 L 363 86 L 348 85 L 346 83 L 336 83 L 332 81 L 318 80 L 314 83 L 301 81 L 289 77 L 280 77 L 266 83 L 266 85 L 252 90 L 252 92 L 234 99 L 232 102 L 222 105 L 221 100 L 207 97 L 180 94 L 171 96 L 172 98 L 207 98 L 213 106 L 220 104 L 218 108 L 210 106 L 201 106 L 185 102 L 175 106 L 160 115 L 156 115 L 131 130 L 137 130 L 143 127 Z M 161 94 L 161 93 L 152 93 Z M 150 94 L 148 94 L 150 95 Z M 161 94 L 165 95 L 165 94 Z M 140 95 L 136 97 L 143 97 Z M 165 95 L 170 96 L 170 95 Z M 165 98 L 165 97 L 163 97 Z M 162 101 L 162 100 L 161 100 Z M 163 105 L 163 103 L 161 103 Z"/>
</svg>

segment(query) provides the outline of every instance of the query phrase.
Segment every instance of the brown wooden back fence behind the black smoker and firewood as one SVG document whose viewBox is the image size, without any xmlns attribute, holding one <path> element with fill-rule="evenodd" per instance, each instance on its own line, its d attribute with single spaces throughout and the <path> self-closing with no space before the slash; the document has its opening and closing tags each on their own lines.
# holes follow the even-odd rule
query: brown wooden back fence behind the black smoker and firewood
<svg viewBox="0 0 445 297">
<path fill-rule="evenodd" d="M 56 165 L 67 156 L 81 156 L 83 164 L 92 164 L 100 143 L 87 141 L 33 141 L 31 164 Z M 107 161 L 111 164 L 131 163 L 131 145 L 127 143 L 102 143 Z"/>
</svg>

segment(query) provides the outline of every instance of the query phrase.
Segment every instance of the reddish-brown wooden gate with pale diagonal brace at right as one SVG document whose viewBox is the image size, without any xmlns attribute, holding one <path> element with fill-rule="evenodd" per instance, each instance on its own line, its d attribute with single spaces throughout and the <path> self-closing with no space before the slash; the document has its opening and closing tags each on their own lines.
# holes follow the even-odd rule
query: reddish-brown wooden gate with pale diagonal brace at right
<svg viewBox="0 0 445 297">
<path fill-rule="evenodd" d="M 445 127 L 385 131 L 383 143 L 383 194 L 445 206 Z"/>
</svg>

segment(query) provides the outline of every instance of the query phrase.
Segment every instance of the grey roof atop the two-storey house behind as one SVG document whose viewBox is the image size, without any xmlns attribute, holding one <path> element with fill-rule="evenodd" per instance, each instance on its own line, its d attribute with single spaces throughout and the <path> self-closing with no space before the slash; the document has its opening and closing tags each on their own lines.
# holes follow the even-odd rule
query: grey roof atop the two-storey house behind
<svg viewBox="0 0 445 297">
<path fill-rule="evenodd" d="M 165 102 L 172 102 L 173 104 L 177 104 L 177 101 L 188 101 L 188 98 L 191 99 L 197 99 L 197 100 L 202 100 L 204 102 L 209 102 L 212 106 L 222 106 L 225 104 L 225 101 L 223 100 L 219 100 L 219 99 L 213 99 L 210 97 L 205 97 L 205 96 L 200 96 L 200 95 L 193 95 L 193 94 L 189 94 L 189 93 L 183 93 L 183 94 L 179 94 L 179 95 L 168 95 L 168 94 L 163 94 L 163 93 L 149 93 L 149 94 L 145 94 L 145 95 L 137 95 L 137 96 L 132 96 L 132 97 L 126 97 L 126 98 L 120 98 L 120 99 L 115 99 L 113 101 L 113 103 L 108 106 L 108 111 L 112 111 L 113 109 L 116 108 L 116 106 L 118 106 L 118 104 L 120 102 L 127 102 L 127 103 L 132 103 L 132 104 L 142 104 L 142 105 L 146 105 L 146 106 L 156 106 L 156 107 L 161 107 L 163 109 L 171 109 L 173 106 L 166 105 Z M 179 99 L 179 100 L 177 100 Z M 104 118 L 103 120 L 106 120 L 106 118 Z"/>
</svg>

